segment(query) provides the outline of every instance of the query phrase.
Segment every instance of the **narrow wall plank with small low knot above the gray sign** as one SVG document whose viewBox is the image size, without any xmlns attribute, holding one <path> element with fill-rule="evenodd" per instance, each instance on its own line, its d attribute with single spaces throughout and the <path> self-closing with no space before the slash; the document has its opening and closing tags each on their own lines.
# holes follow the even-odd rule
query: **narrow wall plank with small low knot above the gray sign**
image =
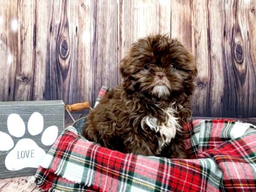
<svg viewBox="0 0 256 192">
<path fill-rule="evenodd" d="M 17 1 L 17 65 L 14 100 L 26 101 L 33 87 L 35 1 Z M 34 40 L 36 41 L 36 40 Z"/>
</svg>

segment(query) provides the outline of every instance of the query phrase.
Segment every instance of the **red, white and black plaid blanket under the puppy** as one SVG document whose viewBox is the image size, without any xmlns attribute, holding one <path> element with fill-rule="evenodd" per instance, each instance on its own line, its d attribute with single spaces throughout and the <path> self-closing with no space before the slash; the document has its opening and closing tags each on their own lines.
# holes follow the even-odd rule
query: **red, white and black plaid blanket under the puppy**
<svg viewBox="0 0 256 192">
<path fill-rule="evenodd" d="M 36 183 L 47 191 L 256 191 L 256 127 L 227 120 L 187 126 L 191 159 L 122 154 L 67 128 L 47 153 Z"/>
</svg>

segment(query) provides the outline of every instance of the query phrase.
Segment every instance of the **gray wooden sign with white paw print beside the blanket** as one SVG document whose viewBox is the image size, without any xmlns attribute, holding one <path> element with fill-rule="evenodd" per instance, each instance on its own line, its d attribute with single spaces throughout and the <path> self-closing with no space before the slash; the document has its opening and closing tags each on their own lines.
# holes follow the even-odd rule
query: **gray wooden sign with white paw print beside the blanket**
<svg viewBox="0 0 256 192">
<path fill-rule="evenodd" d="M 63 129 L 63 101 L 0 102 L 0 178 L 34 175 Z"/>
</svg>

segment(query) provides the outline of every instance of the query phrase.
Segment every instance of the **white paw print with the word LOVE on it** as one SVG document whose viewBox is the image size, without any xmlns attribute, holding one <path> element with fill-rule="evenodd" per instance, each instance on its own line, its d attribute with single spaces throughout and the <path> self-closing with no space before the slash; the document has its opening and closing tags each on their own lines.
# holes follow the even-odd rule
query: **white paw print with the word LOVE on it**
<svg viewBox="0 0 256 192">
<path fill-rule="evenodd" d="M 9 134 L 13 137 L 23 137 L 26 132 L 25 123 L 16 113 L 8 116 L 7 128 Z M 38 112 L 33 113 L 29 118 L 27 128 L 32 136 L 40 134 L 44 129 L 43 116 Z M 14 141 L 9 134 L 0 131 L 0 151 L 9 151 L 13 148 Z M 57 137 L 58 127 L 50 126 L 44 130 L 41 143 L 47 146 L 52 145 Z M 17 171 L 26 167 L 38 168 L 45 154 L 45 151 L 32 139 L 21 138 L 12 151 L 7 154 L 5 165 L 10 171 Z"/>
</svg>

